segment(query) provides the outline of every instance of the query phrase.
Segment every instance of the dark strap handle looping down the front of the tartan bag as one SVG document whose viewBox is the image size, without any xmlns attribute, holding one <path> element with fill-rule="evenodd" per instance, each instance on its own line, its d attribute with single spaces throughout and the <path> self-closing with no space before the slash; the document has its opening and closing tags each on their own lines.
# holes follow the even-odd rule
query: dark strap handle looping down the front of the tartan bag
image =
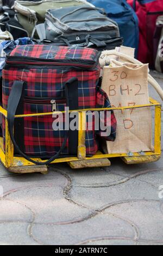
<svg viewBox="0 0 163 256">
<path fill-rule="evenodd" d="M 70 83 L 73 83 L 74 81 L 77 81 L 77 78 L 71 78 L 70 82 L 68 81 L 68 85 L 70 86 Z M 59 155 L 61 154 L 61 151 L 65 148 L 66 142 L 67 142 L 67 137 L 68 137 L 68 132 L 66 131 L 66 136 L 64 139 L 64 142 L 61 145 L 60 150 L 57 152 L 57 154 L 55 154 L 54 156 L 52 156 L 49 160 L 47 160 L 46 162 L 37 162 L 34 161 L 33 159 L 30 159 L 30 157 L 28 157 L 26 154 L 24 154 L 21 149 L 18 147 L 15 138 L 14 138 L 14 119 L 15 119 L 15 113 L 16 113 L 16 109 L 18 107 L 18 103 L 21 100 L 21 96 L 23 93 L 23 88 L 24 86 L 26 86 L 26 82 L 23 81 L 14 81 L 13 85 L 12 85 L 12 89 L 9 95 L 9 99 L 8 99 L 8 115 L 7 115 L 7 120 L 8 120 L 8 127 L 9 127 L 9 133 L 10 133 L 10 137 L 11 137 L 11 141 L 14 144 L 16 150 L 18 151 L 18 153 L 23 156 L 25 159 L 27 159 L 28 161 L 34 163 L 34 164 L 39 164 L 44 165 L 44 164 L 49 164 L 51 162 L 53 162 L 55 159 L 57 159 L 59 157 Z"/>
</svg>

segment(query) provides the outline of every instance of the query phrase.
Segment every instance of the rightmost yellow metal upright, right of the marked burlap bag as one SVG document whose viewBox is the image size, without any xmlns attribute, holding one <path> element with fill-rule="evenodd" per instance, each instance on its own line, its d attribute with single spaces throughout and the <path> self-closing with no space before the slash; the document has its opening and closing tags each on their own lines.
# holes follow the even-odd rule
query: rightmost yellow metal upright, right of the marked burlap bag
<svg viewBox="0 0 163 256">
<path fill-rule="evenodd" d="M 154 152 L 161 154 L 161 106 L 155 106 Z"/>
</svg>

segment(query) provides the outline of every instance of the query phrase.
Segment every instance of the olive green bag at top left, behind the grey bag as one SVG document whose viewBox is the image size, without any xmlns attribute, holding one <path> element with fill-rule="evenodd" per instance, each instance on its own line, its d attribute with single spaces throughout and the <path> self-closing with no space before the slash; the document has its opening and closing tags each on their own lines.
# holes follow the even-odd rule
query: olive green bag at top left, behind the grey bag
<svg viewBox="0 0 163 256">
<path fill-rule="evenodd" d="M 35 2 L 15 1 L 14 9 L 17 11 L 18 21 L 33 36 L 36 25 L 45 21 L 48 9 L 88 4 L 85 0 L 38 0 Z"/>
</svg>

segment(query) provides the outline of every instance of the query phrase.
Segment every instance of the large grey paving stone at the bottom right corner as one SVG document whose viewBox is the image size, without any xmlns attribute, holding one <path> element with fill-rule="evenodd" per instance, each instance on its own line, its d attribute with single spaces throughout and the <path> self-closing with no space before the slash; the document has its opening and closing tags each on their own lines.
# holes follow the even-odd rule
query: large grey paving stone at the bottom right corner
<svg viewBox="0 0 163 256">
<path fill-rule="evenodd" d="M 163 215 L 160 202 L 139 201 L 117 204 L 104 212 L 129 220 L 139 228 L 140 240 L 163 241 Z"/>
</svg>

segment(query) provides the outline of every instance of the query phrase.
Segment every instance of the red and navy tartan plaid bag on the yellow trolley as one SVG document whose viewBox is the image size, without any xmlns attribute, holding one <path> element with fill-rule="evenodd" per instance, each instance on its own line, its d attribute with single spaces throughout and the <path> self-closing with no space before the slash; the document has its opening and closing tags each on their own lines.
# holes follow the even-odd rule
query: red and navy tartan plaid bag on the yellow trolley
<svg viewBox="0 0 163 256">
<path fill-rule="evenodd" d="M 100 72 L 98 58 L 98 52 L 91 48 L 49 45 L 17 46 L 7 56 L 3 70 L 3 107 L 8 110 L 9 132 L 15 154 L 37 164 L 41 163 L 29 157 L 48 159 L 47 164 L 60 155 L 77 155 L 78 131 L 65 129 L 66 114 L 62 120 L 64 129 L 59 130 L 53 129 L 55 118 L 52 114 L 25 118 L 14 118 L 14 115 L 55 113 L 65 111 L 66 106 L 70 110 L 111 107 L 108 97 L 97 86 Z M 111 133 L 105 139 L 114 141 L 116 119 L 110 112 Z M 104 115 L 104 123 L 106 118 Z M 87 156 L 96 154 L 97 136 L 102 135 L 100 129 L 90 130 L 89 126 L 87 121 Z M 4 122 L 3 137 L 5 148 Z"/>
</svg>

